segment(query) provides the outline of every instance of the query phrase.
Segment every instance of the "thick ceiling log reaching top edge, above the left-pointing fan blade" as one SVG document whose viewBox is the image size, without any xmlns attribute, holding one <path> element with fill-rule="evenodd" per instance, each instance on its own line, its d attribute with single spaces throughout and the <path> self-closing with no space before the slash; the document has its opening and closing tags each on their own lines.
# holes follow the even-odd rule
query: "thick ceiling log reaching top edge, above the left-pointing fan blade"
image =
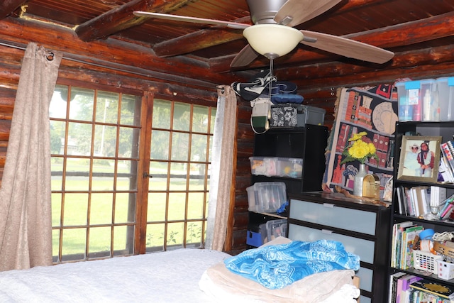
<svg viewBox="0 0 454 303">
<path fill-rule="evenodd" d="M 164 13 L 177 9 L 191 0 L 133 0 L 111 9 L 92 20 L 80 24 L 75 29 L 80 40 L 89 42 L 104 39 L 132 26 L 145 23 L 149 18 L 133 15 L 133 11 L 153 11 Z"/>
</svg>

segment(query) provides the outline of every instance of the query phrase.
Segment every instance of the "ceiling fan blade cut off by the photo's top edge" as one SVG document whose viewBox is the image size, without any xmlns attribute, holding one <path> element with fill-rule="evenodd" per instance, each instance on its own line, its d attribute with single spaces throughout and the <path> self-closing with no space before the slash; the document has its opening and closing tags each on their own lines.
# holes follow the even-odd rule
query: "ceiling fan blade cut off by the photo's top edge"
<svg viewBox="0 0 454 303">
<path fill-rule="evenodd" d="M 275 21 L 284 26 L 297 26 L 328 11 L 342 0 L 288 0 L 276 13 Z M 291 19 L 289 19 L 291 18 Z M 290 22 L 288 22 L 288 19 Z M 287 21 L 286 21 L 287 20 Z"/>
</svg>

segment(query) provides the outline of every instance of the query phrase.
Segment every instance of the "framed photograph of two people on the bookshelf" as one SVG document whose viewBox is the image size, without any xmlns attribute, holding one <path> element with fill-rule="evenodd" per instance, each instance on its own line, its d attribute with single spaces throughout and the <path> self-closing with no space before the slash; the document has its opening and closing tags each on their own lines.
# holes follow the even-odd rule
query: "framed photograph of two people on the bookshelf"
<svg viewBox="0 0 454 303">
<path fill-rule="evenodd" d="M 437 182 L 441 137 L 403 136 L 397 180 Z"/>
</svg>

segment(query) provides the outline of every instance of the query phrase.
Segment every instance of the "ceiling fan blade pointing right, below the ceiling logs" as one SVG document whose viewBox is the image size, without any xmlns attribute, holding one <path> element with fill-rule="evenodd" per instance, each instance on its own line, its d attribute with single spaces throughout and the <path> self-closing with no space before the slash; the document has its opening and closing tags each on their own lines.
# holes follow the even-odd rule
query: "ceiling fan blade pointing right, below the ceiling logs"
<svg viewBox="0 0 454 303">
<path fill-rule="evenodd" d="M 304 30 L 301 30 L 301 33 L 303 33 L 304 39 L 301 40 L 300 43 L 312 46 L 313 48 L 319 48 L 320 50 L 326 50 L 327 52 L 337 55 L 343 55 L 353 59 L 380 64 L 387 62 L 394 57 L 394 53 L 389 50 L 377 48 L 376 46 L 355 40 L 338 37 L 336 35 L 328 35 L 326 33 Z M 315 38 L 316 41 L 311 41 L 312 38 Z"/>
</svg>

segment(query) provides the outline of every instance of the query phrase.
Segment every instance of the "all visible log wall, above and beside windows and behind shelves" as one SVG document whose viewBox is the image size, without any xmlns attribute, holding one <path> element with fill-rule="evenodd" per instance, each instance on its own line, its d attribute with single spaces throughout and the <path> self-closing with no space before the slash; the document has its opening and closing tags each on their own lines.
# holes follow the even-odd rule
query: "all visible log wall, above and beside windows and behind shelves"
<svg viewBox="0 0 454 303">
<path fill-rule="evenodd" d="M 109 40 L 83 43 L 65 28 L 44 23 L 30 24 L 8 18 L 0 21 L 0 180 L 23 57 L 21 47 L 30 41 L 49 49 L 61 50 L 66 57 L 71 57 L 71 60 L 62 60 L 58 79 L 60 83 L 83 82 L 111 88 L 141 89 L 174 100 L 189 98 L 214 104 L 216 84 L 244 80 L 234 73 L 210 72 L 200 62 L 188 60 L 187 64 L 182 64 L 181 61 L 175 63 L 148 56 L 147 49 L 138 45 L 126 48 Z M 21 47 L 11 48 L 1 45 L 1 42 Z M 424 79 L 453 75 L 453 48 L 452 45 L 434 45 L 426 50 L 399 53 L 392 62 L 377 68 L 350 65 L 348 62 L 327 62 L 306 65 L 304 68 L 277 67 L 276 75 L 279 79 L 296 83 L 306 105 L 326 109 L 325 125 L 331 128 L 336 89 L 339 87 L 392 83 L 402 77 Z M 102 65 L 96 62 L 102 62 Z M 238 104 L 235 202 L 231 204 L 231 228 L 226 241 L 226 249 L 233 253 L 246 247 L 248 199 L 245 189 L 250 186 L 248 158 L 253 155 L 254 137 L 250 128 L 250 105 L 242 99 L 238 99 Z"/>
</svg>

